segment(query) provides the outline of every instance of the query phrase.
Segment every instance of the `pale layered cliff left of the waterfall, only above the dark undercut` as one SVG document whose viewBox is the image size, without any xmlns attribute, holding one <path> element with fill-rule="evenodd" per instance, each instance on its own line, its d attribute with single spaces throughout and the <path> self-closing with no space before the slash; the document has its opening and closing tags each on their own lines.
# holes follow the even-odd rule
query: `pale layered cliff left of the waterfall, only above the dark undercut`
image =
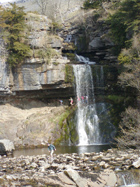
<svg viewBox="0 0 140 187">
<path fill-rule="evenodd" d="M 72 88 L 72 85 L 65 83 L 65 65 L 69 60 L 61 53 L 62 38 L 50 34 L 51 22 L 46 16 L 30 13 L 26 22 L 30 31 L 28 42 L 32 54 L 24 63 L 10 68 L 6 63 L 4 46 L 1 46 L 0 95 L 17 95 L 22 91 L 46 89 L 53 93 L 55 89 L 58 92 L 59 89 L 65 89 L 67 92 L 67 88 Z M 0 42 L 2 44 L 2 40 Z M 63 96 L 67 94 L 69 95 L 69 89 Z M 50 95 L 49 93 L 49 97 Z"/>
</svg>

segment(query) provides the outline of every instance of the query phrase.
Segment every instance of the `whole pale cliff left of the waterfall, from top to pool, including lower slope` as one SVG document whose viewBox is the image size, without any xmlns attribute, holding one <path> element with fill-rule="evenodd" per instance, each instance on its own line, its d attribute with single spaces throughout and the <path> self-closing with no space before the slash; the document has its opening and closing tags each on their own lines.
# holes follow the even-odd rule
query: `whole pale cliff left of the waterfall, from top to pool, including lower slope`
<svg viewBox="0 0 140 187">
<path fill-rule="evenodd" d="M 65 106 L 74 95 L 70 61 L 62 56 L 63 39 L 52 34 L 52 22 L 28 13 L 26 23 L 32 50 L 23 63 L 10 67 L 0 40 L 0 139 L 10 139 L 15 147 L 44 146 L 58 139 L 66 110 L 59 99 Z"/>
</svg>

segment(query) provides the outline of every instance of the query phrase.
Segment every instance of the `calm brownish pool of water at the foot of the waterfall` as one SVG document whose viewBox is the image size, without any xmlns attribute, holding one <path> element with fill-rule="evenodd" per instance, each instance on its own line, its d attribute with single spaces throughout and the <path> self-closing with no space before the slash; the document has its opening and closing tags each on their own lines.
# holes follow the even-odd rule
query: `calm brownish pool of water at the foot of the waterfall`
<svg viewBox="0 0 140 187">
<path fill-rule="evenodd" d="M 87 146 L 57 146 L 55 154 L 65 154 L 65 153 L 91 153 L 91 152 L 101 152 L 106 151 L 111 148 L 110 144 L 105 145 L 87 145 Z M 13 153 L 14 157 L 23 156 L 33 156 L 33 155 L 43 155 L 49 154 L 48 148 L 35 148 L 35 149 L 20 149 L 15 150 Z"/>
</svg>

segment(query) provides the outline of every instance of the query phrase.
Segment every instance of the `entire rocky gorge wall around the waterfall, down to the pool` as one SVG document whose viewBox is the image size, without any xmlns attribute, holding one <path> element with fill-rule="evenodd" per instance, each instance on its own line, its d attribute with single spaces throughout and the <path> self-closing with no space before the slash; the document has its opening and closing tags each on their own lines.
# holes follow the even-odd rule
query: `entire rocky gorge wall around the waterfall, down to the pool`
<svg viewBox="0 0 140 187">
<path fill-rule="evenodd" d="M 120 97 L 120 94 L 126 96 L 126 92 L 117 85 L 120 69 L 116 57 L 111 55 L 113 43 L 105 37 L 108 27 L 103 26 L 103 20 L 95 19 L 95 13 L 95 10 L 78 7 L 70 12 L 61 27 L 55 28 L 47 16 L 28 13 L 25 20 L 29 32 L 28 44 L 32 50 L 30 57 L 16 67 L 11 68 L 7 64 L 7 52 L 0 40 L 1 139 L 10 139 L 16 147 L 35 147 L 45 146 L 48 141 L 55 142 L 57 139 L 60 143 L 65 134 L 68 138 L 68 134 L 61 134 L 61 131 L 66 129 L 68 115 L 65 112 L 70 96 L 76 104 L 71 66 L 79 63 L 75 53 L 90 55 L 97 62 L 97 69 L 102 61 L 105 62 L 104 88 L 98 87 L 97 69 L 92 67 L 96 101 L 106 99 L 106 102 L 113 103 L 115 115 L 116 110 L 120 113 L 120 108 L 126 106 L 124 97 Z M 113 97 L 108 97 L 108 94 Z M 117 97 L 114 97 L 115 94 Z M 60 106 L 60 99 L 63 99 L 63 106 Z M 120 107 L 116 107 L 118 103 Z M 75 136 L 72 137 L 73 142 L 77 139 Z"/>
</svg>

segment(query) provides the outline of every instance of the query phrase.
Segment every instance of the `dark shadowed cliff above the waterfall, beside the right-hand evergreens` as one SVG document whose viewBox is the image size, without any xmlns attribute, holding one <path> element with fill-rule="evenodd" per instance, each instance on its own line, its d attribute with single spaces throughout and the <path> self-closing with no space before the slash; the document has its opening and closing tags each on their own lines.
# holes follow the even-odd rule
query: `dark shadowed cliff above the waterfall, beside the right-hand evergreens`
<svg viewBox="0 0 140 187">
<path fill-rule="evenodd" d="M 65 30 L 61 37 L 67 43 L 64 44 L 63 52 L 74 50 L 78 54 L 89 55 L 96 62 L 116 63 L 117 56 L 113 54 L 114 43 L 109 36 L 110 26 L 106 19 L 109 15 L 112 2 L 102 3 L 103 9 L 79 9 L 77 13 L 71 13 L 65 22 Z"/>
</svg>

